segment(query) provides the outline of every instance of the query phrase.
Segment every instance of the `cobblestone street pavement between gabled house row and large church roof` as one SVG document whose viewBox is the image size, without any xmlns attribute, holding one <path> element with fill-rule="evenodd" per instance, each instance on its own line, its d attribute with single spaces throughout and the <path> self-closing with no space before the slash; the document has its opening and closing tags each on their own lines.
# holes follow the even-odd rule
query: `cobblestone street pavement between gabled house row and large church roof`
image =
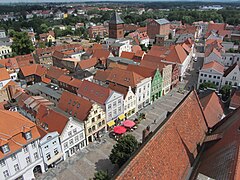
<svg viewBox="0 0 240 180">
<path fill-rule="evenodd" d="M 201 64 L 202 62 L 199 62 Z M 195 67 L 194 67 L 195 66 Z M 191 63 L 190 72 L 196 73 L 196 65 Z M 188 92 L 188 82 L 191 76 L 186 76 L 183 82 L 174 88 L 171 92 L 153 102 L 151 105 L 145 107 L 141 112 L 146 114 L 146 119 L 142 120 L 138 128 L 133 134 L 139 142 L 142 140 L 142 131 L 148 125 L 150 130 L 154 131 L 166 118 L 167 112 L 171 112 L 179 102 L 186 96 Z M 193 78 L 197 78 L 194 76 Z M 191 80 L 196 83 L 195 80 Z M 184 88 L 185 93 L 177 92 L 178 88 Z M 136 115 L 129 119 L 134 119 Z M 154 122 L 156 120 L 156 123 Z M 93 178 L 94 173 L 98 170 L 106 170 L 110 175 L 117 172 L 117 167 L 114 166 L 108 159 L 115 140 L 111 139 L 108 134 L 102 138 L 101 143 L 93 143 L 86 147 L 78 154 L 68 158 L 66 161 L 61 162 L 57 167 L 49 169 L 48 172 L 40 175 L 37 179 L 41 180 L 88 180 Z"/>
</svg>

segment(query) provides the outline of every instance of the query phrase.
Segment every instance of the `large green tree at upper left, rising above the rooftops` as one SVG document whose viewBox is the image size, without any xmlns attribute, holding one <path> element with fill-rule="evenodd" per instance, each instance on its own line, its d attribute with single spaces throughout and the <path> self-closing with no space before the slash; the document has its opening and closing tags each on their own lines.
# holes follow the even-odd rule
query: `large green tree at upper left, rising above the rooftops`
<svg viewBox="0 0 240 180">
<path fill-rule="evenodd" d="M 15 32 L 13 35 L 12 50 L 17 55 L 29 54 L 34 51 L 34 46 L 26 32 Z"/>
</svg>

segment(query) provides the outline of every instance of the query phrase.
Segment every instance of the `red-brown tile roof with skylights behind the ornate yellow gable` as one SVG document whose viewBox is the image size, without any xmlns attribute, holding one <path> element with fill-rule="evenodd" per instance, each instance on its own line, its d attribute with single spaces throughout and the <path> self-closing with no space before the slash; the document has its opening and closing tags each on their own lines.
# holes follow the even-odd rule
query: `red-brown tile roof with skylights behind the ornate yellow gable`
<svg viewBox="0 0 240 180">
<path fill-rule="evenodd" d="M 86 121 L 87 116 L 92 109 L 92 103 L 76 94 L 64 91 L 58 107 L 67 112 L 70 116 L 73 116 L 80 121 Z"/>
</svg>

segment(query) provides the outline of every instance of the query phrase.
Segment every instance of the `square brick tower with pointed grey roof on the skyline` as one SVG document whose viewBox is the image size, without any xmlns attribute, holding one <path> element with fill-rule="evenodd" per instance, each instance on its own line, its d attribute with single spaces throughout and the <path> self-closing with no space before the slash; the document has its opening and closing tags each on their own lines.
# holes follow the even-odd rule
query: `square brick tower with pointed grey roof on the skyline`
<svg viewBox="0 0 240 180">
<path fill-rule="evenodd" d="M 123 26 L 123 20 L 120 18 L 118 13 L 115 12 L 109 22 L 109 38 L 124 38 Z"/>
</svg>

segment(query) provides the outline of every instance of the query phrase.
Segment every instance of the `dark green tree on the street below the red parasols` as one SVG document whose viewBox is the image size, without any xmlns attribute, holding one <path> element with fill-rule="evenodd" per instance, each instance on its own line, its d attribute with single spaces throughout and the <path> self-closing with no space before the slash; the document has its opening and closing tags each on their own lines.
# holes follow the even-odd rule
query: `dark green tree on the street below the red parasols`
<svg viewBox="0 0 240 180">
<path fill-rule="evenodd" d="M 137 149 L 136 138 L 131 134 L 125 135 L 113 146 L 109 159 L 113 164 L 121 167 Z"/>
</svg>

